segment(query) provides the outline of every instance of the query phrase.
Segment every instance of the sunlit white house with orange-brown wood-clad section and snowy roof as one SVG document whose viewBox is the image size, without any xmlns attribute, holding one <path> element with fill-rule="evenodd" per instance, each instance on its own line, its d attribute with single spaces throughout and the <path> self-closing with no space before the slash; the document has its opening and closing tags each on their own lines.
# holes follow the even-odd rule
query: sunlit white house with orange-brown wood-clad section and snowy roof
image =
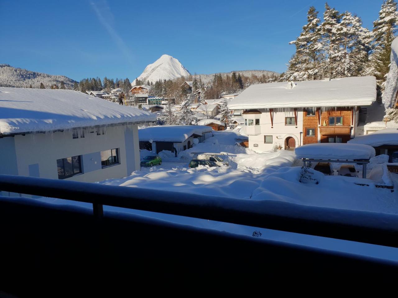
<svg viewBox="0 0 398 298">
<path fill-rule="evenodd" d="M 228 106 L 242 109 L 249 148 L 294 149 L 309 143 L 347 143 L 359 110 L 376 100 L 375 77 L 275 82 L 248 87 Z"/>
</svg>

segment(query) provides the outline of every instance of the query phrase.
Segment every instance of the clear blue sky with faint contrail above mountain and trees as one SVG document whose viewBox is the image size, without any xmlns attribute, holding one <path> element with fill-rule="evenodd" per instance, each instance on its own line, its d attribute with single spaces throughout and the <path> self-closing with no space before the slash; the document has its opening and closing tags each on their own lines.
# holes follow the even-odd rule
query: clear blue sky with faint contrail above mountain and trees
<svg viewBox="0 0 398 298">
<path fill-rule="evenodd" d="M 139 3 L 137 3 L 139 2 Z M 330 0 L 371 29 L 382 0 Z M 192 74 L 283 72 L 308 1 L 0 0 L 0 63 L 48 74 L 129 77 L 162 54 Z"/>
</svg>

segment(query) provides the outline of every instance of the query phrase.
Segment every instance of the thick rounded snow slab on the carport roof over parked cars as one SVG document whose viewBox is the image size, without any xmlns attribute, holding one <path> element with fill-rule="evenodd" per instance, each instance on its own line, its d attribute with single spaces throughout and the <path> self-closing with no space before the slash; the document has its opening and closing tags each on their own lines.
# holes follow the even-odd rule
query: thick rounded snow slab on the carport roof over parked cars
<svg viewBox="0 0 398 298">
<path fill-rule="evenodd" d="M 314 143 L 295 149 L 296 158 L 309 159 L 371 159 L 375 149 L 368 145 L 346 143 Z"/>
</svg>

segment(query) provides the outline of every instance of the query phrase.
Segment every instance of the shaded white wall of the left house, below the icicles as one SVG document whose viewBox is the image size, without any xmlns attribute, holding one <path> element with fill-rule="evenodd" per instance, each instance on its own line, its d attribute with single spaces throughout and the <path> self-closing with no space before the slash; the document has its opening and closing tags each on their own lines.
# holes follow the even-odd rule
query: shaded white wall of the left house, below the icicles
<svg viewBox="0 0 398 298">
<path fill-rule="evenodd" d="M 93 133 L 90 133 L 93 132 Z M 0 147 L 5 145 L 0 139 Z M 27 134 L 12 137 L 15 143 L 17 172 L 21 176 L 58 179 L 57 159 L 81 156 L 82 174 L 66 180 L 96 182 L 120 178 L 139 169 L 137 125 L 109 126 L 104 135 L 96 128 L 84 129 L 84 138 L 73 139 L 71 131 L 48 134 Z M 101 168 L 100 151 L 119 149 L 119 163 Z"/>
</svg>

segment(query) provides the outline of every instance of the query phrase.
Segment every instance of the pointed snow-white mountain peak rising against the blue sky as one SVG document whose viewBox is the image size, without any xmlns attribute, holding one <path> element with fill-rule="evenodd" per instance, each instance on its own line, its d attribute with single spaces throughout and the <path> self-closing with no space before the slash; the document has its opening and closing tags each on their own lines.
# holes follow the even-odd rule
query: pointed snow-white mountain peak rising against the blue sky
<svg viewBox="0 0 398 298">
<path fill-rule="evenodd" d="M 156 82 L 159 81 L 159 79 L 175 79 L 186 75 L 190 75 L 190 73 L 178 59 L 164 54 L 154 63 L 146 66 L 144 72 L 142 72 L 138 79 L 146 83 L 147 81 Z M 135 81 L 132 85 L 135 85 Z"/>
</svg>

